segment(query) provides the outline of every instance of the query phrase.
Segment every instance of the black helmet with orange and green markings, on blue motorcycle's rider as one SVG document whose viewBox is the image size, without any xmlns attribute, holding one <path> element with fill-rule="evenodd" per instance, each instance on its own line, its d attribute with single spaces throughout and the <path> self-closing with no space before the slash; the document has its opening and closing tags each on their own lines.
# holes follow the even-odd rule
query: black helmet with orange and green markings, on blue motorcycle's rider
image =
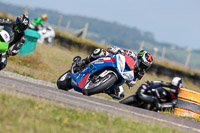
<svg viewBox="0 0 200 133">
<path fill-rule="evenodd" d="M 138 71 L 146 71 L 153 63 L 153 57 L 145 50 L 141 50 L 137 55 L 136 68 Z"/>
</svg>

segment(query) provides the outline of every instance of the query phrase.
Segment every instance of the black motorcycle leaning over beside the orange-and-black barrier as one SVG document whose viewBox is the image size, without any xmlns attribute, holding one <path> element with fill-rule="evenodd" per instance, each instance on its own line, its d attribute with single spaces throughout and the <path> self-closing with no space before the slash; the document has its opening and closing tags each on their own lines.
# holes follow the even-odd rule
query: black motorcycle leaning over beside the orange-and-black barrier
<svg viewBox="0 0 200 133">
<path fill-rule="evenodd" d="M 141 100 L 140 97 L 145 97 L 141 95 L 141 90 L 147 90 L 145 91 L 145 95 L 156 97 L 157 98 L 157 103 L 148 103 L 144 100 Z M 169 90 L 164 89 L 163 87 L 159 88 L 154 88 L 154 85 L 147 85 L 147 84 L 142 84 L 138 90 L 136 91 L 135 94 L 123 99 L 119 103 L 121 104 L 126 104 L 134 107 L 139 107 L 143 109 L 148 109 L 152 111 L 173 111 L 175 105 L 176 105 L 177 99 L 172 100 L 171 99 L 171 94 Z M 159 105 L 162 105 L 159 106 Z"/>
</svg>

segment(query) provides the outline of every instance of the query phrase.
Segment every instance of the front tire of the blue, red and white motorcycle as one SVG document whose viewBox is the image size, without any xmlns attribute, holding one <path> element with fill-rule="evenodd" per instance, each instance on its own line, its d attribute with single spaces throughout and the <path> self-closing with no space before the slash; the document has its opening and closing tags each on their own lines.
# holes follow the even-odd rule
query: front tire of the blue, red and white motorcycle
<svg viewBox="0 0 200 133">
<path fill-rule="evenodd" d="M 101 82 L 103 83 L 96 85 L 92 81 L 89 81 L 87 84 L 91 84 L 91 85 L 89 85 L 87 89 L 83 88 L 82 93 L 88 96 L 93 95 L 93 94 L 103 93 L 106 89 L 108 89 L 109 87 L 111 87 L 113 84 L 117 82 L 117 77 L 115 76 L 115 74 L 110 73 L 107 75 L 107 77 L 103 78 Z"/>
</svg>

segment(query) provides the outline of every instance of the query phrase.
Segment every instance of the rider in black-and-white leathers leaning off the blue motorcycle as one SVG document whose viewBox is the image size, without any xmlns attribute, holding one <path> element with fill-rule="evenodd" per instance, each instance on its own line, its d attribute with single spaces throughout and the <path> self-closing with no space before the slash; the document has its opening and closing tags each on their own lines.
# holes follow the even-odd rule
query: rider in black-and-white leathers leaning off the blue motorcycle
<svg viewBox="0 0 200 133">
<path fill-rule="evenodd" d="M 135 69 L 134 69 L 134 80 L 130 82 L 126 82 L 126 84 L 129 87 L 133 87 L 138 80 L 140 80 L 143 76 L 146 70 L 151 66 L 153 62 L 153 58 L 151 54 L 145 50 L 141 50 L 137 55 L 132 52 L 131 50 L 122 50 L 119 47 L 112 46 L 108 48 L 108 51 L 105 49 L 95 49 L 91 55 L 87 56 L 85 59 L 80 60 L 76 65 L 78 67 L 85 66 L 89 64 L 90 62 L 101 58 L 101 57 L 112 57 L 116 54 L 122 54 L 127 55 L 133 58 L 134 61 L 136 61 Z M 124 89 L 122 86 L 119 86 L 110 92 L 108 92 L 108 95 L 110 95 L 113 99 L 120 100 L 124 98 Z"/>
</svg>

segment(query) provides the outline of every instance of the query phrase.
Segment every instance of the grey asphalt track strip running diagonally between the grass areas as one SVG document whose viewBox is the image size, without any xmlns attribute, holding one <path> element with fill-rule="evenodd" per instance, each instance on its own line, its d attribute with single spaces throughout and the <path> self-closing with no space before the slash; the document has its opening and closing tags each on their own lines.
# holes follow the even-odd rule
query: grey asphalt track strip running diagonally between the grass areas
<svg viewBox="0 0 200 133">
<path fill-rule="evenodd" d="M 103 112 L 137 122 L 162 125 L 167 128 L 176 128 L 186 132 L 200 133 L 200 122 L 178 118 L 166 114 L 156 113 L 132 106 L 122 105 L 94 96 L 84 96 L 72 91 L 62 91 L 55 85 L 43 85 L 24 81 L 19 77 L 8 77 L 0 72 L 0 90 L 22 93 L 29 96 L 48 99 L 67 106 Z"/>
</svg>

